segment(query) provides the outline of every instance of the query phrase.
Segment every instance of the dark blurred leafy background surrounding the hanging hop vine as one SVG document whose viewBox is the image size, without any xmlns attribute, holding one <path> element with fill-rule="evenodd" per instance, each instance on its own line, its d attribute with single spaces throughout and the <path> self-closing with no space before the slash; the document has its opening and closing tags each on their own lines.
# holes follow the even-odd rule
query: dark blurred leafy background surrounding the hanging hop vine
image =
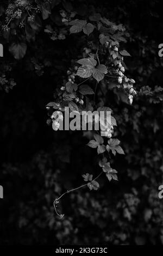
<svg viewBox="0 0 163 256">
<path fill-rule="evenodd" d="M 126 49 L 132 56 L 125 62 L 127 74 L 136 81 L 137 92 L 149 86 L 153 93 L 138 94 L 132 106 L 115 97 L 117 135 L 126 153 L 113 162 L 119 181 L 101 177 L 98 191 L 85 187 L 67 194 L 60 201 L 65 214 L 60 220 L 53 200 L 83 184 L 83 173 L 96 175 L 99 168 L 95 151 L 85 145 L 86 134 L 54 132 L 46 124 L 45 106 L 79 53 L 71 36 L 58 42 L 41 31 L 26 57 L 12 64 L 10 77 L 16 86 L 9 93 L 0 92 L 1 245 L 163 244 L 163 200 L 158 198 L 163 184 L 163 97 L 155 90 L 163 87 L 158 56 L 163 43 L 161 1 L 87 2 L 126 26 Z M 8 45 L 4 52 L 1 66 L 13 61 Z M 41 75 L 32 57 L 41 63 Z M 45 65 L 46 59 L 52 66 Z"/>
</svg>

